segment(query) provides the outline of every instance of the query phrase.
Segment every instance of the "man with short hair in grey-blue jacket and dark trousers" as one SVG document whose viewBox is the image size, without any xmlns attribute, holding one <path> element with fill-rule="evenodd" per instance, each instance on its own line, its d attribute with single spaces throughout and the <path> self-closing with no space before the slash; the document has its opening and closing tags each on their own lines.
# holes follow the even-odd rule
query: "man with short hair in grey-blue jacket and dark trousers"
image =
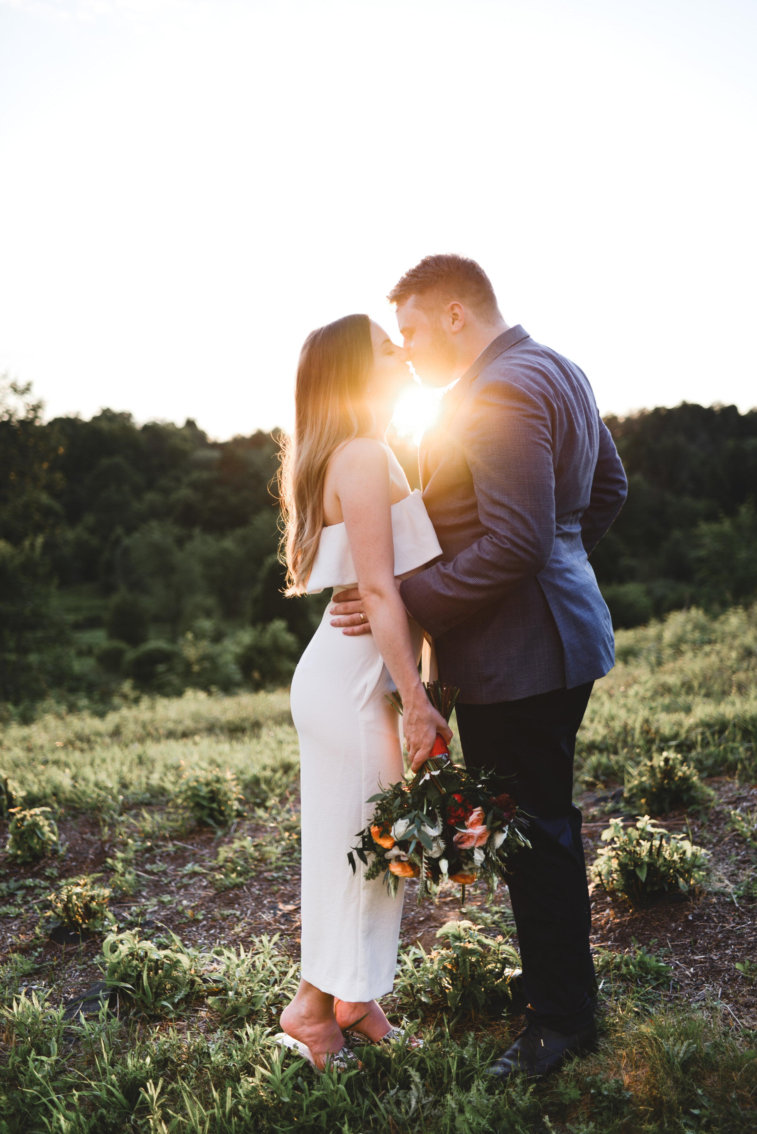
<svg viewBox="0 0 757 1134">
<path fill-rule="evenodd" d="M 626 499 L 626 476 L 584 372 L 508 327 L 475 261 L 426 256 L 389 299 L 417 374 L 458 380 L 419 455 L 442 559 L 400 594 L 434 637 L 440 678 L 460 687 L 466 765 L 510 777 L 531 816 L 531 849 L 509 879 L 528 1025 L 490 1070 L 541 1075 L 596 1042 L 572 771 L 592 685 L 614 662 L 587 555 Z M 335 625 L 360 623 L 352 598 L 333 608 Z"/>
</svg>

